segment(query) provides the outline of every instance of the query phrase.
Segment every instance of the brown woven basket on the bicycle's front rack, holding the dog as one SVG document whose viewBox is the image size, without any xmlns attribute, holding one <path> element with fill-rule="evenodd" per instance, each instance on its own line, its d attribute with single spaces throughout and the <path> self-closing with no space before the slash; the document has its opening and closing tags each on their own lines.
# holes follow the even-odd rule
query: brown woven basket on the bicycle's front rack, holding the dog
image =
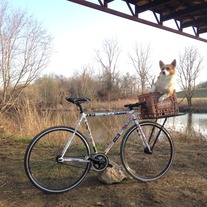
<svg viewBox="0 0 207 207">
<path fill-rule="evenodd" d="M 146 102 L 146 105 L 141 107 L 142 119 L 163 118 L 179 113 L 175 91 L 172 96 L 162 102 L 158 102 L 160 96 L 161 94 L 159 92 L 138 96 L 139 102 Z"/>
</svg>

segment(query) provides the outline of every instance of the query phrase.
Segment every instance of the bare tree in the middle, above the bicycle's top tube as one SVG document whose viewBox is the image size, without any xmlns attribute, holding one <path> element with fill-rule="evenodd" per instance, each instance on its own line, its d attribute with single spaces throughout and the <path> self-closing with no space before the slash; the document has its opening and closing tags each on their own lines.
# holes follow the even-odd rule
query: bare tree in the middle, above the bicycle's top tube
<svg viewBox="0 0 207 207">
<path fill-rule="evenodd" d="M 106 39 L 102 50 L 96 50 L 96 60 L 101 66 L 102 89 L 100 94 L 111 100 L 112 93 L 116 93 L 119 72 L 117 71 L 120 48 L 116 39 Z"/>
</svg>

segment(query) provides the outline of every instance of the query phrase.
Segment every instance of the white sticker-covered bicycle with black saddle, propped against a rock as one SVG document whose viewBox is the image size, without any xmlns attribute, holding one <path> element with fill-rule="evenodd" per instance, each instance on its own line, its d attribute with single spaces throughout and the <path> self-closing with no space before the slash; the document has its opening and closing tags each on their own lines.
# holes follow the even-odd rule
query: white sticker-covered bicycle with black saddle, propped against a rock
<svg viewBox="0 0 207 207">
<path fill-rule="evenodd" d="M 145 103 L 127 104 L 126 111 L 85 113 L 82 104 L 88 98 L 66 98 L 80 110 L 80 119 L 75 128 L 54 126 L 36 135 L 30 142 L 24 159 L 29 180 L 37 188 L 62 193 L 77 187 L 83 182 L 91 167 L 104 171 L 111 167 L 108 152 L 131 122 L 134 124 L 125 132 L 120 144 L 121 163 L 126 172 L 140 181 L 153 181 L 165 175 L 173 163 L 173 140 L 161 125 L 153 121 L 139 122 L 135 107 Z M 88 123 L 88 117 L 129 115 L 121 130 L 116 134 L 103 153 L 99 153 Z M 88 138 L 78 131 L 84 122 Z M 91 152 L 93 151 L 93 152 Z"/>
</svg>

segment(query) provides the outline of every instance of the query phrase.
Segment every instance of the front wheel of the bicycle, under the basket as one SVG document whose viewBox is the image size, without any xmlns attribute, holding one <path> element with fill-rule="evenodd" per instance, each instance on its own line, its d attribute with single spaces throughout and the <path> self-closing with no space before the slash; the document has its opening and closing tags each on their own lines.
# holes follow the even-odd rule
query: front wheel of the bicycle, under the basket
<svg viewBox="0 0 207 207">
<path fill-rule="evenodd" d="M 135 179 L 153 181 L 167 173 L 173 163 L 174 145 L 167 130 L 154 122 L 140 126 L 152 152 L 144 146 L 136 125 L 125 134 L 121 144 L 121 160 L 125 170 Z"/>
</svg>

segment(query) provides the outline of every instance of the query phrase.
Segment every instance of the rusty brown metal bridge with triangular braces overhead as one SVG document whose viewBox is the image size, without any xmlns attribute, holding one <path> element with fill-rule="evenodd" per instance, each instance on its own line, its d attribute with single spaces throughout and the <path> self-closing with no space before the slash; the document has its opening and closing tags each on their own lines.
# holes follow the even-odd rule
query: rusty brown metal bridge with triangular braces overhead
<svg viewBox="0 0 207 207">
<path fill-rule="evenodd" d="M 207 43 L 207 0 L 67 0 L 109 14 L 157 27 Z M 110 8 L 111 3 L 123 1 L 128 12 Z M 140 18 L 140 14 L 150 11 L 154 21 Z M 84 17 L 83 17 L 84 18 Z M 167 26 L 173 20 L 175 27 Z M 186 32 L 191 28 L 192 32 Z"/>
</svg>

